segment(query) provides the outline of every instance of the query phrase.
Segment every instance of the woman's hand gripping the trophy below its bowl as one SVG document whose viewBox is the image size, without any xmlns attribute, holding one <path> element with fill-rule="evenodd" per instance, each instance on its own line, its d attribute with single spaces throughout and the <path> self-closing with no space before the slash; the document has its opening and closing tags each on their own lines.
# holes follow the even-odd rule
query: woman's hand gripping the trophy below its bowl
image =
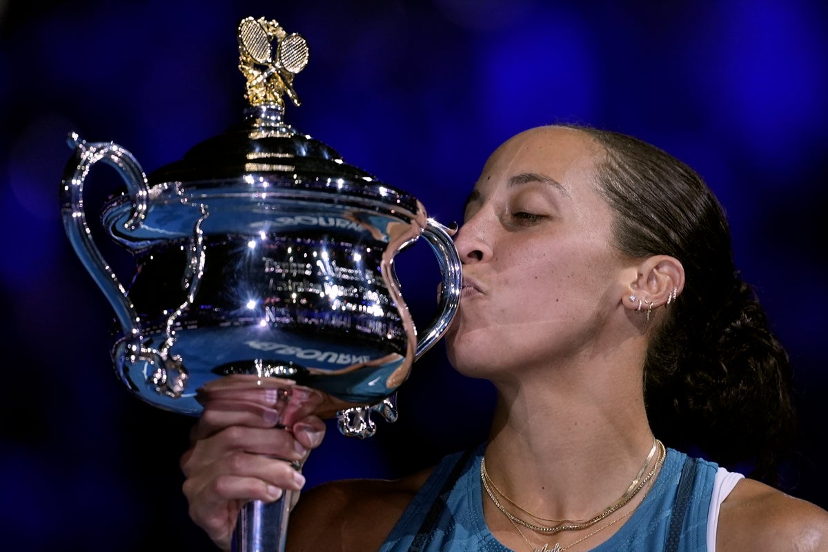
<svg viewBox="0 0 828 552">
<path fill-rule="evenodd" d="M 276 378 L 264 378 L 265 387 L 250 381 L 230 376 L 200 390 L 205 408 L 181 456 L 190 517 L 223 550 L 230 550 L 245 502 L 301 489 L 305 478 L 296 468 L 325 435 L 314 414 L 325 401 L 320 393 Z M 292 494 L 296 500 L 299 493 Z"/>
</svg>

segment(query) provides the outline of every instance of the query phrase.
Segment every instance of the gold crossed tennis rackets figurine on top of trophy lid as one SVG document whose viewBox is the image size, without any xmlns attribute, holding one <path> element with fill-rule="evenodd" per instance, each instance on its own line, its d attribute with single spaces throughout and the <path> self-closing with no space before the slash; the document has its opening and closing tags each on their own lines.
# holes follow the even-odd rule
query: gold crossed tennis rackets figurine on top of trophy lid
<svg viewBox="0 0 828 552">
<path fill-rule="evenodd" d="M 245 98 L 250 105 L 284 107 L 282 94 L 301 105 L 293 77 L 308 63 L 308 45 L 302 36 L 287 34 L 275 21 L 245 17 L 238 24 L 238 53 L 238 69 L 248 79 Z"/>
</svg>

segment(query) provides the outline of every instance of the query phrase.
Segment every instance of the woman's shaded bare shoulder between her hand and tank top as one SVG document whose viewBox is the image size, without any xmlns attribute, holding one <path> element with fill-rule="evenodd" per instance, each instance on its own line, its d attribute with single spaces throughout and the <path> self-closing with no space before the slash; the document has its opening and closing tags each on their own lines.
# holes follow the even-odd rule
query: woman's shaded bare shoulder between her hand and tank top
<svg viewBox="0 0 828 552">
<path fill-rule="evenodd" d="M 287 550 L 378 550 L 432 471 L 326 482 L 303 492 L 291 511 Z"/>
</svg>

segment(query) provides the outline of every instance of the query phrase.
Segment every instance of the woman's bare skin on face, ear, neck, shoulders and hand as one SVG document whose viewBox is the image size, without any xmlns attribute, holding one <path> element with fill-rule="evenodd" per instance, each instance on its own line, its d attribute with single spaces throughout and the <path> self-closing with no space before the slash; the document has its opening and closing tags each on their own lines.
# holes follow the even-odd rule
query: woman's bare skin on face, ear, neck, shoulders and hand
<svg viewBox="0 0 828 552">
<path fill-rule="evenodd" d="M 647 458 L 647 340 L 659 307 L 684 286 L 676 259 L 625 258 L 612 246 L 613 213 L 595 184 L 599 155 L 579 131 L 518 134 L 484 166 L 455 237 L 465 284 L 445 338 L 449 358 L 497 388 L 486 449 L 490 476 L 508 497 L 551 518 L 603 511 Z M 629 295 L 652 302 L 649 321 Z M 262 456 L 301 459 L 319 444 L 324 426 L 308 415 L 311 406 L 296 404 L 287 430 L 274 427 L 267 405 L 208 404 L 195 426 L 182 458 L 184 490 L 194 521 L 224 550 L 243 498 L 268 500 L 279 488 L 301 487 L 284 462 Z M 288 550 L 377 550 L 428 473 L 311 489 L 291 513 Z M 645 493 L 607 517 L 612 526 L 570 550 L 607 540 Z M 527 550 L 485 498 L 484 516 L 503 545 Z M 545 542 L 524 532 L 533 547 Z M 589 532 L 565 531 L 549 544 L 570 545 Z M 828 550 L 826 535 L 828 512 L 743 480 L 722 505 L 717 550 Z"/>
</svg>

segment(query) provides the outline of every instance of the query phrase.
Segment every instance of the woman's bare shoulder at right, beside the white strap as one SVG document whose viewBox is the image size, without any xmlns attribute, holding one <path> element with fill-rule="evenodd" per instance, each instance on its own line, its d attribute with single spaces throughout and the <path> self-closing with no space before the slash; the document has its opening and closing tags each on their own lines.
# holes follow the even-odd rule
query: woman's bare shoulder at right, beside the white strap
<svg viewBox="0 0 828 552">
<path fill-rule="evenodd" d="M 716 550 L 828 552 L 828 511 L 743 479 L 722 503 Z"/>
</svg>

